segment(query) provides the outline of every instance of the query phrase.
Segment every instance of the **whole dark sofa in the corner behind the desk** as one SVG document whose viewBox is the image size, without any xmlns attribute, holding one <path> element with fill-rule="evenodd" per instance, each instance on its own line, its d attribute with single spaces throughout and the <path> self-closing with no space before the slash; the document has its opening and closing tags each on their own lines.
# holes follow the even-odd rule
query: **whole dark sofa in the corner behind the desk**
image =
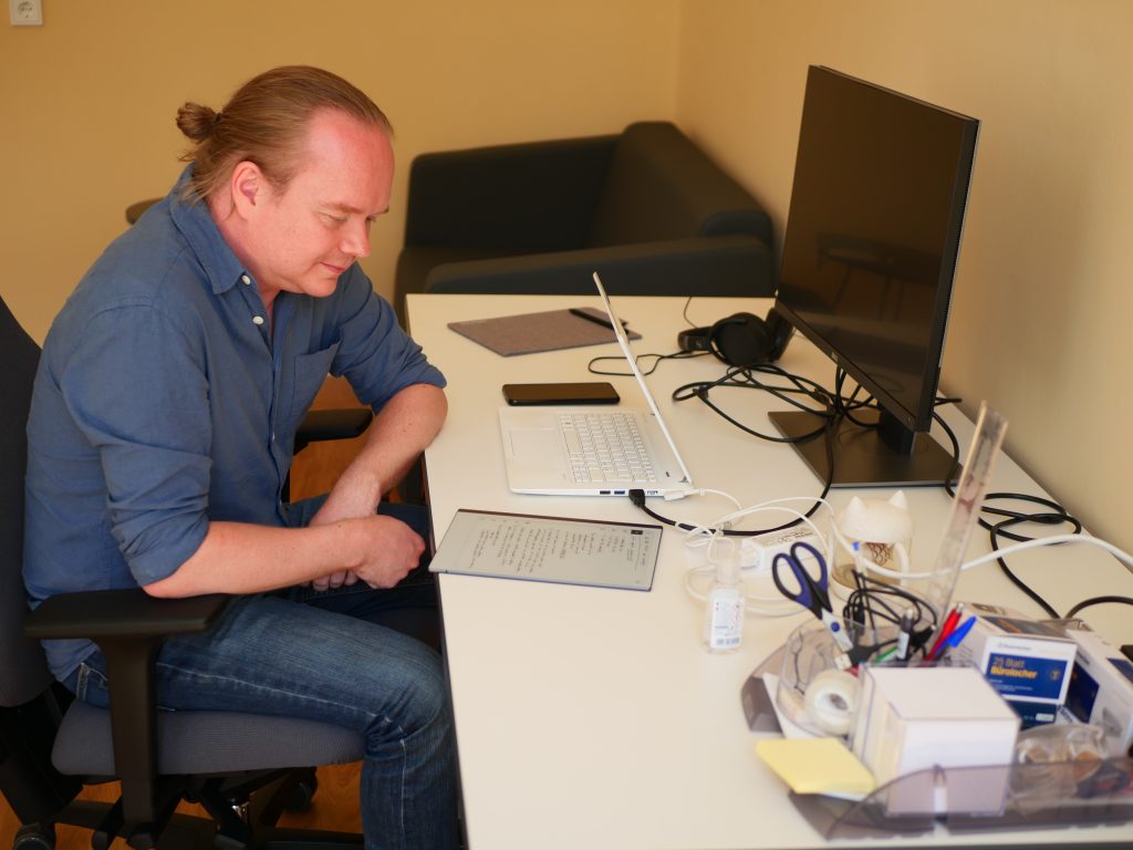
<svg viewBox="0 0 1133 850">
<path fill-rule="evenodd" d="M 674 125 L 428 153 L 412 164 L 409 292 L 774 294 L 767 213 Z"/>
</svg>

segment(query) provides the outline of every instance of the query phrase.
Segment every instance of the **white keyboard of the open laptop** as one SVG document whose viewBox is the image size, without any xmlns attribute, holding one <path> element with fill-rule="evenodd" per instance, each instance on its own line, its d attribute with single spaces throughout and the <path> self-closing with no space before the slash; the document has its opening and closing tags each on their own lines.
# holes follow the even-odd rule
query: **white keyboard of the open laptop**
<svg viewBox="0 0 1133 850">
<path fill-rule="evenodd" d="M 570 475 L 576 482 L 640 481 L 656 476 L 637 420 L 624 413 L 560 414 Z"/>
</svg>

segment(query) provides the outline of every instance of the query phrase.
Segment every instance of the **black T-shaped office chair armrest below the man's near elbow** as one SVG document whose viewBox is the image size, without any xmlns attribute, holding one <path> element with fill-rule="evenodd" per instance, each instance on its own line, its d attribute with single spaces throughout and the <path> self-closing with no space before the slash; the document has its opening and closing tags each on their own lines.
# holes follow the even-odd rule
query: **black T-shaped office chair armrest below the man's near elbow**
<svg viewBox="0 0 1133 850">
<path fill-rule="evenodd" d="M 229 596 L 160 600 L 140 588 L 51 596 L 24 624 L 32 638 L 90 638 L 107 658 L 114 772 L 128 824 L 157 824 L 157 712 L 154 660 L 170 635 L 201 632 L 224 612 Z"/>
</svg>

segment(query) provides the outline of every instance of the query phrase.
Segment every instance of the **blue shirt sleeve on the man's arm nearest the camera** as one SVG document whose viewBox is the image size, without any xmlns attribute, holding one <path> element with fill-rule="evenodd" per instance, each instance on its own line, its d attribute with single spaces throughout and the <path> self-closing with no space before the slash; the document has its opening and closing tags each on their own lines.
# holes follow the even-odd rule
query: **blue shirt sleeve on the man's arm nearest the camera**
<svg viewBox="0 0 1133 850">
<path fill-rule="evenodd" d="M 57 380 L 102 464 L 111 533 L 145 585 L 170 576 L 208 530 L 212 424 L 206 365 L 152 304 L 92 316 Z"/>
</svg>

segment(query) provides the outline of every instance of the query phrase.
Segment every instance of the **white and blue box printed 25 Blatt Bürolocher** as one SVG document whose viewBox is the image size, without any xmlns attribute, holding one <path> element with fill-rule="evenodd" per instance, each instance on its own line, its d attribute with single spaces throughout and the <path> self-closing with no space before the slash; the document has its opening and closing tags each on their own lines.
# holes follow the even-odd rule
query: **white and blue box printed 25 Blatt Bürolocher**
<svg viewBox="0 0 1133 850">
<path fill-rule="evenodd" d="M 973 606 L 979 611 L 979 606 Z M 979 612 L 953 657 L 976 666 L 1029 723 L 1051 723 L 1066 699 L 1076 644 L 1058 628 Z"/>
</svg>

